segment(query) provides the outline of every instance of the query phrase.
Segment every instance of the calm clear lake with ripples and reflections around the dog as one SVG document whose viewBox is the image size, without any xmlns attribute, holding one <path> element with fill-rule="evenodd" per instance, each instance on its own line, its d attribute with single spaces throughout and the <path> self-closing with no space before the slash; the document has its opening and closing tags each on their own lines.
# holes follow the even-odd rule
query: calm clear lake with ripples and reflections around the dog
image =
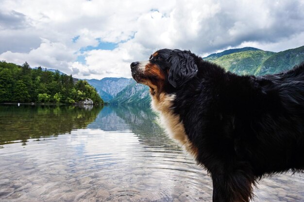
<svg viewBox="0 0 304 202">
<path fill-rule="evenodd" d="M 0 105 L 1 202 L 210 202 L 206 171 L 149 107 Z M 260 181 L 255 202 L 303 202 L 304 174 Z"/>
</svg>

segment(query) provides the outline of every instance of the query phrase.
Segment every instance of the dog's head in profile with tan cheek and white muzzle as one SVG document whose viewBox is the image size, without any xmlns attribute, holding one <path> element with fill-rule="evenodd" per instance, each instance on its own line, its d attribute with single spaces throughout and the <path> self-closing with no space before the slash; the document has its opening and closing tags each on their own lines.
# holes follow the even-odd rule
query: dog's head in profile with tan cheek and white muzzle
<svg viewBox="0 0 304 202">
<path fill-rule="evenodd" d="M 190 51 L 161 49 L 148 61 L 132 62 L 132 77 L 150 87 L 153 94 L 181 88 L 198 71 L 196 56 Z"/>
</svg>

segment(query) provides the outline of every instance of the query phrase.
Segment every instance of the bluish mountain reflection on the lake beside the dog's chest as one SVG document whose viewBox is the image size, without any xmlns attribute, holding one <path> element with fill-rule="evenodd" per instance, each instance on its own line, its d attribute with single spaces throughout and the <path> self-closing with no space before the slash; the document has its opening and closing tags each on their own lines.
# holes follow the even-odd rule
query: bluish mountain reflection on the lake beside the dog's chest
<svg viewBox="0 0 304 202">
<path fill-rule="evenodd" d="M 104 131 L 132 131 L 138 140 L 150 146 L 174 146 L 158 124 L 158 117 L 149 107 L 108 106 L 87 128 Z M 165 137 L 165 138 L 164 138 Z"/>
</svg>

